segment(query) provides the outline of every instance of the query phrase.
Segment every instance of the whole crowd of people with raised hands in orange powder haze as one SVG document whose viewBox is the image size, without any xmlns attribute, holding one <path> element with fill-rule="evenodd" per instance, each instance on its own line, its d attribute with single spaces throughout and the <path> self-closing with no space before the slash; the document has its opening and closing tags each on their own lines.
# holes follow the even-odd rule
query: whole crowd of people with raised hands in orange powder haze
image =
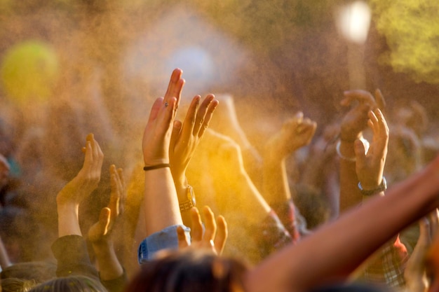
<svg viewBox="0 0 439 292">
<path fill-rule="evenodd" d="M 39 132 L 18 151 L 1 125 L 3 291 L 439 291 L 439 158 L 419 104 L 349 90 L 318 135 L 297 112 L 252 145 L 233 97 L 183 104 L 184 83 L 175 69 L 123 168 L 89 133 L 78 169 L 50 181 L 69 160 L 40 158 Z"/>
</svg>

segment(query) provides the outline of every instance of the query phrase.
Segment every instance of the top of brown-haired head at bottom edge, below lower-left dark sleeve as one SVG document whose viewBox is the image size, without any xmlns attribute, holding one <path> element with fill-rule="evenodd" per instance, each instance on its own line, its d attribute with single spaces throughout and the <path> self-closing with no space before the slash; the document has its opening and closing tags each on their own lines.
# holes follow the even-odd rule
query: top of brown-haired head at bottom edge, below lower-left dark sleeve
<svg viewBox="0 0 439 292">
<path fill-rule="evenodd" d="M 29 292 L 107 292 L 97 279 L 85 276 L 55 278 L 41 283 Z"/>
</svg>

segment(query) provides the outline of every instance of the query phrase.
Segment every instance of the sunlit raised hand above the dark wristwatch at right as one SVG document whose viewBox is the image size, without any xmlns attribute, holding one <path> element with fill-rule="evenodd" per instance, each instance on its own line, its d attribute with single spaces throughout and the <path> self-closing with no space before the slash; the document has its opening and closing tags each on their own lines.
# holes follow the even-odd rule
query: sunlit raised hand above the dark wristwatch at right
<svg viewBox="0 0 439 292">
<path fill-rule="evenodd" d="M 356 141 L 356 173 L 358 181 L 365 190 L 373 190 L 381 183 L 384 164 L 386 163 L 387 145 L 389 143 L 389 127 L 379 109 L 370 111 L 367 125 L 372 129 L 373 138 L 369 150 L 361 141 Z"/>
</svg>

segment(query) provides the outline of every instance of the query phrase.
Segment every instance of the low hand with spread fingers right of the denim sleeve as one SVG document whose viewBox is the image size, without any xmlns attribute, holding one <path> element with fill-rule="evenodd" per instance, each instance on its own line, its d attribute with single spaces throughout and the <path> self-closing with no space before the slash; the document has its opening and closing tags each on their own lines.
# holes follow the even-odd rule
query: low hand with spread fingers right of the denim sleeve
<svg viewBox="0 0 439 292">
<path fill-rule="evenodd" d="M 208 249 L 217 255 L 221 255 L 227 241 L 227 223 L 223 216 L 215 216 L 212 210 L 203 207 L 203 217 L 205 219 L 205 228 L 201 216 L 196 207 L 191 209 L 191 242 L 187 242 L 187 237 L 181 226 L 177 228 L 178 246 L 180 249 Z"/>
</svg>

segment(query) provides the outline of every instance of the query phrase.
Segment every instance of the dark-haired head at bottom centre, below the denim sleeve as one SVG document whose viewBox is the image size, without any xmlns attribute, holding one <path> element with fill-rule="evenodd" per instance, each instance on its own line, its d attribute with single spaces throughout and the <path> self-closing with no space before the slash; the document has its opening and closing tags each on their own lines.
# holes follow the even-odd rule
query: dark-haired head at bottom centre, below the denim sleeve
<svg viewBox="0 0 439 292">
<path fill-rule="evenodd" d="M 238 260 L 212 252 L 172 251 L 142 265 L 125 291 L 241 292 L 246 270 Z"/>
</svg>

